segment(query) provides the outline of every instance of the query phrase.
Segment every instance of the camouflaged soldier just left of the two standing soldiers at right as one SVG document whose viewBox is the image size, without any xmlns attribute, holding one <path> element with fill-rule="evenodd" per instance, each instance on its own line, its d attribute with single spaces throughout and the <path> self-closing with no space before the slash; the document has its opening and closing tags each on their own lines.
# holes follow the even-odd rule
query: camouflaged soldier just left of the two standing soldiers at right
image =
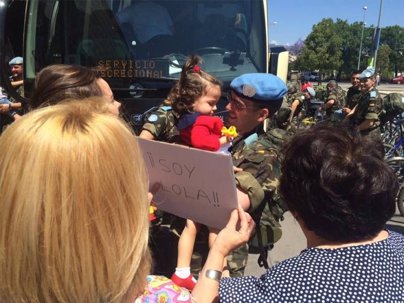
<svg viewBox="0 0 404 303">
<path fill-rule="evenodd" d="M 331 80 L 327 83 L 327 98 L 325 104 L 320 107 L 320 113 L 325 112 L 325 120 L 342 121 L 343 117 L 336 113 L 345 105 L 345 91 L 338 86 L 338 83 Z M 341 113 L 342 114 L 342 111 Z"/>
</svg>

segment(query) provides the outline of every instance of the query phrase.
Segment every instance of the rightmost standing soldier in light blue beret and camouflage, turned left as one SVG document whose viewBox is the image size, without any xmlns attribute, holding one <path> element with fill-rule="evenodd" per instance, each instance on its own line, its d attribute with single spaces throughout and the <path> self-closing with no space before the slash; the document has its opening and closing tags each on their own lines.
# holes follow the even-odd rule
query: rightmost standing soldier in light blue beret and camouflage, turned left
<svg viewBox="0 0 404 303">
<path fill-rule="evenodd" d="M 353 119 L 363 135 L 380 139 L 380 114 L 383 111 L 383 99 L 375 88 L 375 70 L 369 67 L 360 75 L 361 97 L 358 105 L 346 116 L 345 122 Z"/>
</svg>

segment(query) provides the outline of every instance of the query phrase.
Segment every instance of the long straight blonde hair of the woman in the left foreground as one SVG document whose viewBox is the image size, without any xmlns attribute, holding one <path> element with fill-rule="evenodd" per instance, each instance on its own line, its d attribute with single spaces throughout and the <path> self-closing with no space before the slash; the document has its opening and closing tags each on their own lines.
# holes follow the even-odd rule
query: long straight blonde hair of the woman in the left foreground
<svg viewBox="0 0 404 303">
<path fill-rule="evenodd" d="M 106 100 L 33 111 L 0 150 L 0 301 L 134 300 L 150 267 L 148 182 Z"/>
</svg>

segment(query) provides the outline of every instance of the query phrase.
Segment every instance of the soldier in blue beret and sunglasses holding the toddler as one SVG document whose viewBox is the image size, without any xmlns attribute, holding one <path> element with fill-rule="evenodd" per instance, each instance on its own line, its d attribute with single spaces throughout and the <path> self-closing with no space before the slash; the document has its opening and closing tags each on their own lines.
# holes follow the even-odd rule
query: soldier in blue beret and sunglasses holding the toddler
<svg viewBox="0 0 404 303">
<path fill-rule="evenodd" d="M 265 81 L 259 81 L 256 77 L 264 77 Z M 244 84 L 246 79 L 250 79 L 251 84 Z M 238 84 L 237 80 L 238 79 Z M 240 82 L 240 79 L 242 80 Z M 234 84 L 234 81 L 236 81 Z M 263 129 L 263 121 L 275 113 L 282 101 L 282 96 L 286 93 L 286 86 L 276 76 L 269 74 L 248 74 L 240 76 L 232 82 L 232 92 L 230 95 L 230 102 L 227 109 L 230 111 L 227 124 L 234 125 L 241 136 L 234 140 L 233 147 L 229 150 L 233 156 L 234 165 L 243 169 L 243 171 L 236 173 L 236 184 L 241 196 L 248 200 L 250 204 L 249 212 L 254 212 L 257 207 L 264 202 L 265 199 L 273 199 L 271 203 L 271 210 L 263 217 L 267 216 L 269 225 L 273 225 L 274 235 L 272 238 L 276 240 L 280 237 L 279 219 L 282 217 L 284 210 L 281 199 L 277 195 L 276 187 L 279 179 L 279 162 L 277 158 L 278 146 L 276 143 L 279 140 L 279 134 L 276 132 L 265 132 Z M 256 88 L 255 81 L 259 83 Z M 274 85 L 275 82 L 275 85 Z M 265 86 L 266 85 L 266 86 Z M 277 89 L 275 89 L 277 87 Z M 236 90 L 237 89 L 237 90 Z M 257 91 L 257 89 L 259 89 Z M 243 94 L 243 92 L 245 94 Z M 269 95 L 279 97 L 276 101 L 272 100 L 275 104 L 270 104 L 271 99 L 255 99 L 251 96 L 263 96 L 267 98 Z M 264 116 L 260 116 L 260 112 L 264 112 Z M 169 126 L 164 125 L 166 119 L 152 118 L 151 121 L 147 118 L 146 123 L 155 124 L 157 120 L 162 125 L 155 126 L 158 129 L 165 129 L 169 131 Z M 151 130 L 151 131 L 150 131 Z M 154 132 L 151 126 L 143 127 L 143 131 L 149 133 Z M 143 133 L 142 131 L 142 133 Z M 170 132 L 170 131 L 169 131 Z M 155 132 L 157 134 L 157 132 Z M 283 133 L 282 133 L 283 134 Z M 158 136 L 155 136 L 157 138 Z M 273 141 L 276 143 L 274 143 Z M 268 195 L 266 192 L 272 192 Z M 273 214 L 271 213 L 273 211 Z M 172 221 L 172 231 L 179 235 L 184 228 L 185 220 L 175 218 Z M 198 233 L 194 251 L 192 255 L 191 269 L 192 274 L 196 277 L 205 263 L 208 255 L 207 245 L 207 230 L 204 229 Z M 232 277 L 239 277 L 243 275 L 248 258 L 248 246 L 243 245 L 230 256 L 227 257 L 227 264 Z"/>
</svg>

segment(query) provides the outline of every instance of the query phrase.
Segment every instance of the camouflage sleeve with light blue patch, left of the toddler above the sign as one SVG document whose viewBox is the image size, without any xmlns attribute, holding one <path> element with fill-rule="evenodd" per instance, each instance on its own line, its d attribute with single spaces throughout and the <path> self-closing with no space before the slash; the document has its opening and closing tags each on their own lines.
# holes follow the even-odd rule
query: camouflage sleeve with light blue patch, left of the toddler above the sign
<svg viewBox="0 0 404 303">
<path fill-rule="evenodd" d="M 177 130 L 179 115 L 169 106 L 162 106 L 157 111 L 149 113 L 145 119 L 142 130 L 147 130 L 157 141 L 179 142 Z"/>
</svg>

